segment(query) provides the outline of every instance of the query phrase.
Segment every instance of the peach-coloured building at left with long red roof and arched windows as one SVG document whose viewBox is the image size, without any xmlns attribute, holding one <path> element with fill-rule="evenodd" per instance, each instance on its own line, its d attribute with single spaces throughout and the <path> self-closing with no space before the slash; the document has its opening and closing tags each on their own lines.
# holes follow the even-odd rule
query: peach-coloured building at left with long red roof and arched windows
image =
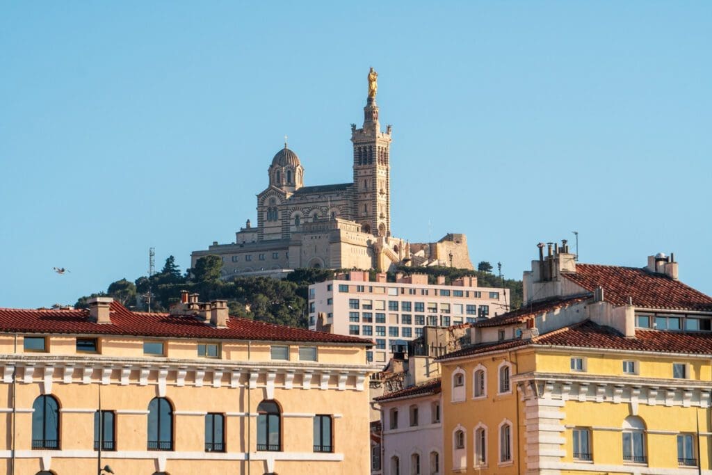
<svg viewBox="0 0 712 475">
<path fill-rule="evenodd" d="M 370 342 L 233 318 L 0 309 L 0 472 L 367 474 Z"/>
</svg>

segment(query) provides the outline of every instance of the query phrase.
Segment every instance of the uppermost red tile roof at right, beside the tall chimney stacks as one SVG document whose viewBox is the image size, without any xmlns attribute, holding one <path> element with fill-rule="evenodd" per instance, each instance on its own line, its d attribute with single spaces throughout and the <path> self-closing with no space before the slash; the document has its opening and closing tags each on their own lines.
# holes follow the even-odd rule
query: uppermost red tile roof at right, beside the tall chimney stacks
<svg viewBox="0 0 712 475">
<path fill-rule="evenodd" d="M 671 310 L 712 310 L 712 297 L 680 281 L 644 268 L 576 264 L 575 273 L 563 277 L 593 292 L 598 286 L 604 290 L 604 300 L 615 305 Z"/>
</svg>

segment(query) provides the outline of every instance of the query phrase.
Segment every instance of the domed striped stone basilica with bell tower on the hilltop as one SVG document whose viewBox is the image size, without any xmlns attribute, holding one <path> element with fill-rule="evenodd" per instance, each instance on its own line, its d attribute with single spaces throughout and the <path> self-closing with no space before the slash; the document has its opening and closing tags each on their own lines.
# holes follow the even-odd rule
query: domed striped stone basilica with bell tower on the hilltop
<svg viewBox="0 0 712 475">
<path fill-rule="evenodd" d="M 300 267 L 472 268 L 464 234 L 434 243 L 409 243 L 391 234 L 392 127 L 383 132 L 379 124 L 377 77 L 371 68 L 363 125 L 351 125 L 353 181 L 305 186 L 305 169 L 285 142 L 268 168 L 268 187 L 257 195 L 256 226 L 248 219 L 234 243 L 194 251 L 192 266 L 203 256 L 219 256 L 224 278 L 278 276 Z"/>
</svg>

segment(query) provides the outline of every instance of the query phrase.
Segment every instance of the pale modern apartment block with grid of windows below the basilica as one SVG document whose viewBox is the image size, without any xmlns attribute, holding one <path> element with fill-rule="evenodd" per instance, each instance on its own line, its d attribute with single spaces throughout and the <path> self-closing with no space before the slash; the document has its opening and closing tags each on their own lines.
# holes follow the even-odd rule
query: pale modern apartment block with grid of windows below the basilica
<svg viewBox="0 0 712 475">
<path fill-rule="evenodd" d="M 478 287 L 476 277 L 446 286 L 444 277 L 433 285 L 425 274 L 397 274 L 396 282 L 387 282 L 385 273 L 377 273 L 369 281 L 368 272 L 351 271 L 309 286 L 309 329 L 372 338 L 367 361 L 384 365 L 425 326 L 474 323 L 505 313 L 509 302 L 509 289 Z"/>
</svg>

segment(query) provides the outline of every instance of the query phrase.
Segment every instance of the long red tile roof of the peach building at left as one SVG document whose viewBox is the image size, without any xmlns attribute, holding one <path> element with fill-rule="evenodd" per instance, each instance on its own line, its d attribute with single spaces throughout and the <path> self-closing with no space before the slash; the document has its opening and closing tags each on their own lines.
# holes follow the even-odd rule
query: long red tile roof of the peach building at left
<svg viewBox="0 0 712 475">
<path fill-rule="evenodd" d="M 273 325 L 246 318 L 230 317 L 226 328 L 214 328 L 190 316 L 132 312 L 116 301 L 111 303 L 110 318 L 111 324 L 95 323 L 90 320 L 89 310 L 86 309 L 0 308 L 0 332 L 372 345 L 370 340 L 362 338 Z"/>
</svg>

